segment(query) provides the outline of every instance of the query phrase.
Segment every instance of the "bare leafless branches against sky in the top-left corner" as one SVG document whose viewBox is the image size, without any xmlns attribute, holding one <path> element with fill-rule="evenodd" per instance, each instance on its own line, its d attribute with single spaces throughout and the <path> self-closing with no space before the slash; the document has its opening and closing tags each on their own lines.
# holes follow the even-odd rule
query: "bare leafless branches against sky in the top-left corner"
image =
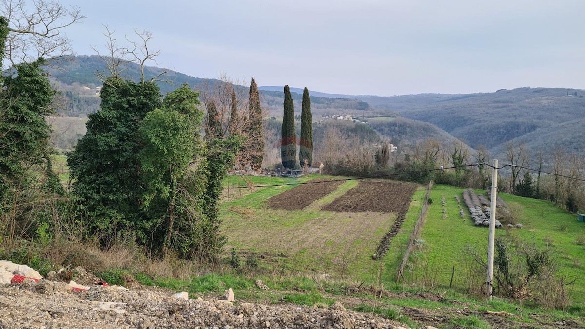
<svg viewBox="0 0 585 329">
<path fill-rule="evenodd" d="M 8 19 L 9 30 L 3 68 L 73 54 L 71 40 L 63 29 L 85 18 L 77 6 L 45 0 L 1 0 L 0 11 Z"/>
</svg>

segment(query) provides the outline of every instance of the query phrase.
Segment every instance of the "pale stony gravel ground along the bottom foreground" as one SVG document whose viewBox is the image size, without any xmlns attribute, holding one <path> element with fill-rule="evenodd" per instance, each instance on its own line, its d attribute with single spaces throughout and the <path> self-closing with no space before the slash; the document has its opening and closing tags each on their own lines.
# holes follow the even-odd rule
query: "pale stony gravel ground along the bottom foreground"
<svg viewBox="0 0 585 329">
<path fill-rule="evenodd" d="M 394 328 L 400 323 L 371 314 L 292 304 L 183 300 L 167 290 L 92 286 L 67 292 L 41 280 L 0 286 L 0 328 Z M 191 296 L 192 297 L 192 296 Z M 237 296 L 236 296 L 237 299 Z"/>
</svg>

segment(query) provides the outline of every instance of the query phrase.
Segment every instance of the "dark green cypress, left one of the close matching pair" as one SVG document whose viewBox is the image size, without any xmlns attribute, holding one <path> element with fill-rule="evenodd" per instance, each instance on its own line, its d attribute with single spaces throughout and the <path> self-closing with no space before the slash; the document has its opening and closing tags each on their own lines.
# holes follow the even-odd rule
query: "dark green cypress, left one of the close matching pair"
<svg viewBox="0 0 585 329">
<path fill-rule="evenodd" d="M 297 133 L 294 128 L 294 104 L 288 85 L 284 86 L 284 117 L 280 151 L 283 166 L 293 169 L 297 164 Z"/>
</svg>

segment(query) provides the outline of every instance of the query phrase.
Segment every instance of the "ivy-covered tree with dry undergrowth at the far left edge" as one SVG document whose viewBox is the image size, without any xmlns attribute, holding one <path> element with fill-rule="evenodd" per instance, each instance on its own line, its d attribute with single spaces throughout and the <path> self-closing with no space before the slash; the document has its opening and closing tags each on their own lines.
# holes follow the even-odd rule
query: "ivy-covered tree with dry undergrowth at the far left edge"
<svg viewBox="0 0 585 329">
<path fill-rule="evenodd" d="M 15 32 L 8 25 L 0 16 L 0 61 L 9 32 Z M 42 58 L 20 62 L 12 74 L 0 76 L 0 229 L 9 239 L 31 234 L 39 221 L 51 218 L 54 204 L 47 200 L 64 192 L 51 169 L 46 116 L 53 114 L 55 92 L 40 68 L 44 64 Z"/>
</svg>

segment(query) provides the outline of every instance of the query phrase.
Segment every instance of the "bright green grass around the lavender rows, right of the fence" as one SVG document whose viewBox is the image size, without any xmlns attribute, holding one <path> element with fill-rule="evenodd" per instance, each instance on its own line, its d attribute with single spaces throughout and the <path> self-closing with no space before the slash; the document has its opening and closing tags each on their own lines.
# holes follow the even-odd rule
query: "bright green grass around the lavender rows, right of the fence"
<svg viewBox="0 0 585 329">
<path fill-rule="evenodd" d="M 465 218 L 460 218 L 459 206 L 455 196 L 461 198 L 463 189 L 452 186 L 435 186 L 431 193 L 434 202 L 429 207 L 421 238 L 424 240 L 421 259 L 425 259 L 427 272 L 432 272 L 436 285 L 449 286 L 453 276 L 453 286 L 463 287 L 466 283 L 466 266 L 463 255 L 468 245 L 474 248 L 487 248 L 489 230 L 487 227 L 473 225 L 467 208 L 463 209 Z M 478 190 L 479 192 L 479 190 Z M 446 218 L 443 219 L 441 197 L 445 197 Z M 552 245 L 560 265 L 560 275 L 569 282 L 572 299 L 577 303 L 585 302 L 585 246 L 578 239 L 585 235 L 585 225 L 576 220 L 576 216 L 555 207 L 548 201 L 522 198 L 502 193 L 501 198 L 508 204 L 517 203 L 522 208 L 519 222 L 523 228 L 510 230 L 497 229 L 496 236 L 512 234 L 528 241 L 534 240 L 538 246 Z M 580 241 L 580 240 L 579 240 Z M 580 242 L 583 243 L 583 242 Z M 415 265 L 414 265 L 415 266 Z M 421 279 L 423 266 L 416 270 Z"/>
</svg>

